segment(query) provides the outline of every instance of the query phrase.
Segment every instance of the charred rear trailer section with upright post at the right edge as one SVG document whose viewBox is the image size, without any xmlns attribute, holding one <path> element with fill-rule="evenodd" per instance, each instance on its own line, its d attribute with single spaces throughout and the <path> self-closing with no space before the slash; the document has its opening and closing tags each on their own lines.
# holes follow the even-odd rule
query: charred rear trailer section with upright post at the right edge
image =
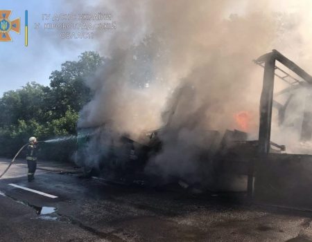
<svg viewBox="0 0 312 242">
<path fill-rule="evenodd" d="M 301 77 L 303 81 L 282 71 L 275 65 L 277 61 Z M 312 156 L 272 152 L 274 151 L 272 146 L 279 147 L 281 151 L 284 151 L 285 147 L 278 146 L 270 140 L 272 107 L 275 102 L 273 100 L 275 76 L 290 85 L 277 94 L 286 93 L 301 86 L 309 88 L 312 84 L 312 77 L 277 50 L 262 55 L 254 60 L 254 63 L 264 68 L 259 110 L 259 140 L 254 145 L 257 149 L 254 149 L 253 156 L 251 154 L 240 156 L 237 159 L 238 162 L 234 162 L 231 158 L 218 160 L 218 167 L 223 167 L 223 172 L 232 172 L 231 167 L 235 166 L 236 173 L 247 175 L 248 197 L 254 202 L 312 208 Z M 284 75 L 275 73 L 277 69 Z M 302 139 L 311 140 L 312 119 L 311 115 L 306 115 L 306 113 L 309 114 L 311 111 L 306 110 L 304 113 Z"/>
</svg>

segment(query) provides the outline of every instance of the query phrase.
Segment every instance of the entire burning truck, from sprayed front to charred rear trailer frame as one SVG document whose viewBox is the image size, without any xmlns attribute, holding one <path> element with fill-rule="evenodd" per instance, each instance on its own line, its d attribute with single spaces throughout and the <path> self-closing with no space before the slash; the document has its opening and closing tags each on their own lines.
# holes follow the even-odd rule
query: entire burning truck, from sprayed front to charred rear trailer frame
<svg viewBox="0 0 312 242">
<path fill-rule="evenodd" d="M 277 66 L 276 62 L 282 65 Z M 259 109 L 259 139 L 250 140 L 245 131 L 200 131 L 202 144 L 198 147 L 196 162 L 201 187 L 209 190 L 237 190 L 237 178 L 243 178 L 239 189 L 250 198 L 264 203 L 309 206 L 312 203 L 312 156 L 288 154 L 288 147 L 271 141 L 272 113 L 277 111 L 278 126 L 287 127 L 287 111 L 298 90 L 304 90 L 306 105 L 300 120 L 300 141 L 309 144 L 312 137 L 311 100 L 312 77 L 277 50 L 254 60 L 264 68 L 263 89 Z M 285 71 L 285 67 L 288 71 Z M 288 72 L 291 72 L 288 73 Z M 275 77 L 286 83 L 286 87 L 274 92 Z M 166 125 L 155 131 L 144 131 L 139 138 L 132 139 L 126 133 L 116 133 L 106 123 L 97 127 L 78 128 L 78 164 L 86 176 L 105 176 L 121 180 L 162 180 L 161 174 L 150 174 L 146 167 L 162 152 L 162 136 L 175 132 L 171 122 L 179 106 L 180 97 L 189 86 L 180 88 L 176 95 Z M 283 96 L 281 101 L 278 97 Z M 275 109 L 275 110 L 274 110 Z M 245 113 L 236 118 L 241 122 Z M 296 124 L 297 125 L 297 124 Z M 289 125 L 288 125 L 289 126 Z M 91 149 L 91 151 L 90 151 Z M 90 155 L 91 154 L 91 155 Z M 153 177 L 153 179 L 150 179 Z M 166 182 L 180 180 L 178 176 Z M 198 183 L 195 180 L 194 183 Z M 189 182 L 189 181 L 188 181 Z M 161 183 L 161 182 L 160 182 Z"/>
</svg>

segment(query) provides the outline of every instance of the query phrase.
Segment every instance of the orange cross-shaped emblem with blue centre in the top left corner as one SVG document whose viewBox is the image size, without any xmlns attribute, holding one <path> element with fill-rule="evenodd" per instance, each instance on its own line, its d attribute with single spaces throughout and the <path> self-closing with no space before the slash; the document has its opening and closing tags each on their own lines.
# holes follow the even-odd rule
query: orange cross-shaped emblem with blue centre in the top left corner
<svg viewBox="0 0 312 242">
<path fill-rule="evenodd" d="M 21 20 L 17 18 L 10 21 L 11 12 L 11 10 L 0 10 L 0 41 L 12 41 L 11 30 L 19 34 Z"/>
</svg>

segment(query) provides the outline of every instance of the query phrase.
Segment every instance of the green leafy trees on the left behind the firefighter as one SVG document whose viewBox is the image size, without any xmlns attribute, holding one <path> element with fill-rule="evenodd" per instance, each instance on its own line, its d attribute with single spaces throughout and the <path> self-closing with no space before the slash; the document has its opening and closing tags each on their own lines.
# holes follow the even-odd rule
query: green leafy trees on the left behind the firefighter
<svg viewBox="0 0 312 242">
<path fill-rule="evenodd" d="M 103 64 L 98 53 L 87 51 L 51 73 L 50 85 L 27 83 L 0 98 L 0 156 L 12 156 L 28 138 L 40 140 L 76 134 L 78 112 L 92 93 L 85 85 Z M 63 157 L 64 158 L 64 157 Z"/>
</svg>

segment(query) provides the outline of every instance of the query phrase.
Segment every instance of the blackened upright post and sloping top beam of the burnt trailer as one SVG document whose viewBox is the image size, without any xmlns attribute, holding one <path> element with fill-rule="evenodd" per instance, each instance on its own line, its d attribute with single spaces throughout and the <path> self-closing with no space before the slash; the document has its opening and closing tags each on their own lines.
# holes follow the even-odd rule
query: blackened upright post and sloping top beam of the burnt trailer
<svg viewBox="0 0 312 242">
<path fill-rule="evenodd" d="M 288 69 L 293 71 L 302 78 L 307 84 L 312 84 L 312 77 L 306 73 L 302 68 L 297 66 L 290 59 L 281 55 L 277 50 L 272 50 L 270 53 L 262 55 L 258 59 L 254 60 L 254 63 L 264 67 L 263 74 L 263 88 L 260 99 L 260 123 L 259 123 L 259 154 L 266 156 L 270 151 L 270 133 L 272 122 L 272 104 L 273 104 L 273 90 L 274 90 L 274 77 L 275 75 L 281 80 L 284 80 L 293 88 L 297 88 L 297 85 L 302 85 L 304 82 L 300 82 L 297 78 L 289 75 L 281 68 L 275 66 L 275 62 L 278 61 Z M 285 76 L 277 75 L 275 70 L 279 69 Z M 289 82 L 292 80 L 293 82 Z"/>
</svg>

